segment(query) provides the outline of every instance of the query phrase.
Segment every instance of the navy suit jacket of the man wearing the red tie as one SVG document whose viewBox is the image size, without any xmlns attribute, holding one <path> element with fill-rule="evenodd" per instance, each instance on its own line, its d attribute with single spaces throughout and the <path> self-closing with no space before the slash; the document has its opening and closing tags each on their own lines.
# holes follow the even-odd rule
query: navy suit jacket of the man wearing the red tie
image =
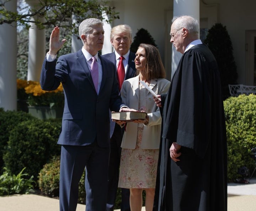
<svg viewBox="0 0 256 211">
<path fill-rule="evenodd" d="M 102 55 L 102 57 L 104 57 L 104 58 L 110 60 L 111 62 L 113 62 L 115 67 L 116 67 L 116 54 L 115 54 L 115 52 L 112 52 L 110 54 L 104 54 L 104 55 Z M 136 57 L 136 55 L 133 52 L 130 51 L 129 59 L 128 59 L 128 65 L 127 65 L 127 69 L 126 69 L 126 74 L 124 76 L 124 80 L 135 77 L 135 74 L 136 74 L 136 68 L 135 68 L 135 62 L 134 62 L 135 57 Z M 116 71 L 117 71 L 117 69 L 116 69 Z M 110 113 L 110 116 L 111 116 L 111 113 Z M 114 126 L 115 126 L 115 122 L 113 122 L 111 120 L 111 122 L 110 122 L 110 137 L 112 137 L 112 134 L 114 132 Z"/>
</svg>

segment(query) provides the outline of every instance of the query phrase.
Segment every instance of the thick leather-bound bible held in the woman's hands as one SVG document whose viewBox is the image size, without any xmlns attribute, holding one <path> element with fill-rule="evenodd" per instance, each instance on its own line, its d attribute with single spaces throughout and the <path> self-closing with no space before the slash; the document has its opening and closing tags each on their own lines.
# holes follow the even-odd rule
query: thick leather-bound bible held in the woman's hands
<svg viewBox="0 0 256 211">
<path fill-rule="evenodd" d="M 124 112 L 112 112 L 111 118 L 113 120 L 121 120 L 125 122 L 131 122 L 133 120 L 145 120 L 147 113 L 136 111 L 124 111 Z"/>
</svg>

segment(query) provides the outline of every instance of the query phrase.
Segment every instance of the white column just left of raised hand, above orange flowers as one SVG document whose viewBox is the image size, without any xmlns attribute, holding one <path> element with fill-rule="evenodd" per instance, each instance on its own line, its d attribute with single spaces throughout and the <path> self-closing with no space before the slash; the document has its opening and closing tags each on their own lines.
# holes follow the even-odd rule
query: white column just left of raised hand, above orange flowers
<svg viewBox="0 0 256 211">
<path fill-rule="evenodd" d="M 32 8 L 37 6 L 38 0 L 26 0 Z M 39 19 L 44 21 L 44 18 L 33 17 L 32 20 Z M 31 23 L 29 29 L 28 40 L 28 74 L 27 80 L 40 80 L 40 74 L 44 57 L 46 55 L 46 30 L 39 30 L 34 23 Z"/>
</svg>

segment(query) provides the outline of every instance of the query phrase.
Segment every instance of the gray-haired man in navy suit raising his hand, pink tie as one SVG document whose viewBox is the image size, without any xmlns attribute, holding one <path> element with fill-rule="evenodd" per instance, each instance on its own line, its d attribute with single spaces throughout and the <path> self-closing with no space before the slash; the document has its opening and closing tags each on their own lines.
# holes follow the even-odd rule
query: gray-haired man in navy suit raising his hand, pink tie
<svg viewBox="0 0 256 211">
<path fill-rule="evenodd" d="M 50 48 L 40 78 L 43 90 L 55 90 L 62 83 L 65 105 L 58 144 L 60 156 L 60 211 L 75 211 L 78 184 L 86 169 L 86 210 L 105 211 L 108 187 L 111 111 L 130 111 L 118 93 L 116 67 L 102 58 L 103 23 L 96 18 L 81 22 L 82 49 L 60 56 L 65 39 L 59 41 L 59 28 L 50 36 Z M 94 57 L 94 58 L 93 58 Z M 96 62 L 94 61 L 96 60 Z M 93 63 L 93 65 L 92 65 Z M 97 83 L 91 75 L 97 66 Z"/>
</svg>

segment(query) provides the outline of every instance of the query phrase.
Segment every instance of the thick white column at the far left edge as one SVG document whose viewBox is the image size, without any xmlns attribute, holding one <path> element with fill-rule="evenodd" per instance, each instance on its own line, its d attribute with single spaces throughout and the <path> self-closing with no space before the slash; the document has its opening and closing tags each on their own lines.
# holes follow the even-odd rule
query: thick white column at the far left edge
<svg viewBox="0 0 256 211">
<path fill-rule="evenodd" d="M 17 11 L 17 0 L 5 4 L 7 10 Z M 0 26 L 0 107 L 17 110 L 17 28 L 16 24 Z"/>
</svg>

